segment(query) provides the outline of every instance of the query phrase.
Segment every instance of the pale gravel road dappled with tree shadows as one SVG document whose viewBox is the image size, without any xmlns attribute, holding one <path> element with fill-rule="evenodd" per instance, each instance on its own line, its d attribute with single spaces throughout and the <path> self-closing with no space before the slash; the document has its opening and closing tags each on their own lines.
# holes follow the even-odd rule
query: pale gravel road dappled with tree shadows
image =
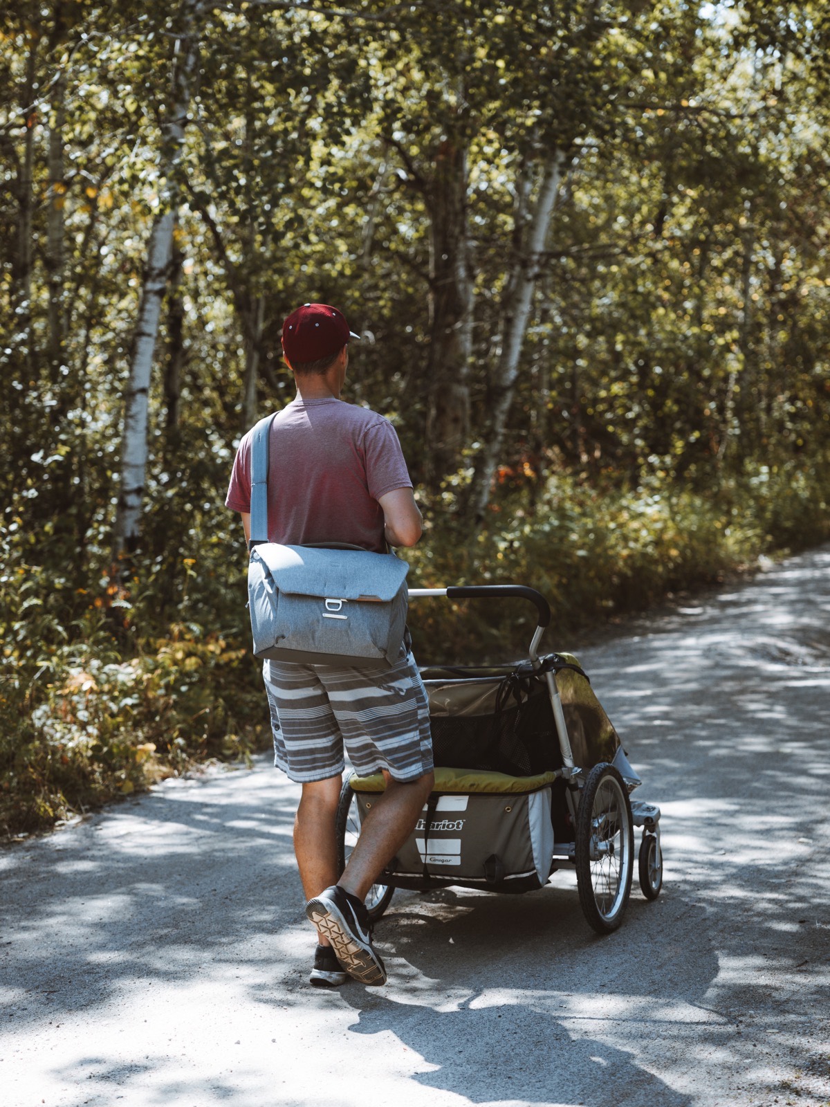
<svg viewBox="0 0 830 1107">
<path fill-rule="evenodd" d="M 830 1104 L 830 548 L 580 658 L 663 810 L 620 931 L 397 892 L 388 986 L 312 990 L 297 788 L 167 780 L 0 851 L 0 1105 Z"/>
</svg>

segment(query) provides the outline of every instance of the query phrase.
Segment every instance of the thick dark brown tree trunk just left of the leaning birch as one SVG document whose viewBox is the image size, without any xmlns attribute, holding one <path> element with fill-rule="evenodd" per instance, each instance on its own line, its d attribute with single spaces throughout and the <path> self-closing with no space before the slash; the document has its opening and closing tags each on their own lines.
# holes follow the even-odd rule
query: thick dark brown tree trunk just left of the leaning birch
<svg viewBox="0 0 830 1107">
<path fill-rule="evenodd" d="M 460 464 L 469 432 L 473 282 L 467 231 L 467 151 L 445 139 L 428 195 L 429 359 L 427 479 L 435 487 Z"/>
</svg>

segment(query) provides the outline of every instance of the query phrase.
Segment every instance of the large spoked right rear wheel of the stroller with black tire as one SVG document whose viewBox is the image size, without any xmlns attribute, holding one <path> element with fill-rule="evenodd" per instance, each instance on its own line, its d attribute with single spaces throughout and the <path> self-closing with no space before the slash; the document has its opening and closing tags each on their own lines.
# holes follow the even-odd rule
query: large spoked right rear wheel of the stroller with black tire
<svg viewBox="0 0 830 1107">
<path fill-rule="evenodd" d="M 623 779 L 606 762 L 594 765 L 580 793 L 574 852 L 582 912 L 598 934 L 610 934 L 629 903 L 634 823 Z"/>
</svg>

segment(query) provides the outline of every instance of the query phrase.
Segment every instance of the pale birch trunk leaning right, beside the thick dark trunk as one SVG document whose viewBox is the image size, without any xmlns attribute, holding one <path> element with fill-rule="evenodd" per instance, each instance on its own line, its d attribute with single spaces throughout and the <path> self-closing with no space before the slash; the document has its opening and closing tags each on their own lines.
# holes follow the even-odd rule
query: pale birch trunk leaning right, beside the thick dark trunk
<svg viewBox="0 0 830 1107">
<path fill-rule="evenodd" d="M 566 155 L 561 151 L 554 151 L 544 166 L 523 250 L 505 293 L 505 327 L 492 377 L 494 403 L 490 428 L 486 445 L 478 456 L 467 501 L 467 517 L 476 525 L 480 525 L 484 519 L 490 498 L 492 477 L 505 439 L 505 427 L 519 374 L 519 355 L 521 354 L 533 291 L 539 277 L 541 256 L 548 238 L 548 228 L 553 215 L 564 162 Z M 520 196 L 521 189 L 522 183 L 520 182 Z"/>
</svg>

